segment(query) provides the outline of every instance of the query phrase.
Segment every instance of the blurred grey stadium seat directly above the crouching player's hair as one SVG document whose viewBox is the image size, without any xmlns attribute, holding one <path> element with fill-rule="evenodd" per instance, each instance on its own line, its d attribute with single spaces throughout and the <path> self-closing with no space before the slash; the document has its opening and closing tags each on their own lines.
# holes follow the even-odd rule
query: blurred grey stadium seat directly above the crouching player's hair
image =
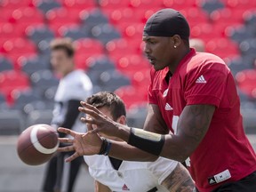
<svg viewBox="0 0 256 192">
<path fill-rule="evenodd" d="M 102 91 L 114 92 L 117 88 L 130 84 L 130 79 L 116 70 L 104 71 L 99 77 L 99 85 Z"/>
</svg>

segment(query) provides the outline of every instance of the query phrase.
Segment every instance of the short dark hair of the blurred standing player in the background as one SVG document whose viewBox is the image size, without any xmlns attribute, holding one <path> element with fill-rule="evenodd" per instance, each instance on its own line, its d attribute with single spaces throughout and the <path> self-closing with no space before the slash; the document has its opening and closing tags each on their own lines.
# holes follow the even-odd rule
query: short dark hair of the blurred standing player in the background
<svg viewBox="0 0 256 192">
<path fill-rule="evenodd" d="M 72 39 L 71 38 L 56 38 L 53 39 L 50 48 L 52 51 L 55 50 L 64 50 L 68 57 L 74 57 L 75 54 L 75 47 L 73 45 Z"/>
</svg>

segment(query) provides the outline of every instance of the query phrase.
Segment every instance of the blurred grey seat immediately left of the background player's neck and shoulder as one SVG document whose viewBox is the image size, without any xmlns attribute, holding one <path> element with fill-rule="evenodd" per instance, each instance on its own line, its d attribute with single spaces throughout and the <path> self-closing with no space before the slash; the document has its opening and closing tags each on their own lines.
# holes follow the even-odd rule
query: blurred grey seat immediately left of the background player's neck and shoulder
<svg viewBox="0 0 256 192">
<path fill-rule="evenodd" d="M 37 88 L 41 91 L 59 84 L 59 79 L 52 74 L 51 70 L 36 71 L 30 76 L 30 81 L 34 89 Z"/>
</svg>

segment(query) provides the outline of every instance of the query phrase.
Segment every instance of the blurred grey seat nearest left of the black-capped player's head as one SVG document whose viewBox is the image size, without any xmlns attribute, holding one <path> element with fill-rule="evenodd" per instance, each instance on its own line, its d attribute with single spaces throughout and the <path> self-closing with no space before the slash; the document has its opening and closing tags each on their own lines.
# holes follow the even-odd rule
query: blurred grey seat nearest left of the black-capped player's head
<svg viewBox="0 0 256 192">
<path fill-rule="evenodd" d="M 92 37 L 107 44 L 113 39 L 120 38 L 121 34 L 110 24 L 100 24 L 92 28 Z"/>
</svg>

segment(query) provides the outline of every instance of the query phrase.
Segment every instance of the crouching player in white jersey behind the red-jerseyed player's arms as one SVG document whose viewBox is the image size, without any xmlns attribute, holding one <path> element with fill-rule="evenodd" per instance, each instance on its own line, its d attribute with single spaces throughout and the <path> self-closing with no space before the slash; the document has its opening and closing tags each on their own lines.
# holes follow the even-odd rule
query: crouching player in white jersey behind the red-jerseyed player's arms
<svg viewBox="0 0 256 192">
<path fill-rule="evenodd" d="M 112 92 L 98 92 L 87 103 L 119 124 L 126 124 L 124 102 Z M 103 136 L 103 135 L 102 135 Z M 119 140 L 118 138 L 109 138 Z M 131 148 L 134 148 L 130 146 Z M 135 149 L 135 148 L 134 148 Z M 140 150 L 137 149 L 136 150 Z M 134 150 L 134 152 L 136 152 Z M 140 151 L 141 155 L 141 151 Z M 145 152 L 147 156 L 147 152 Z M 193 191 L 194 182 L 180 163 L 157 157 L 155 162 L 122 161 L 110 156 L 84 156 L 95 181 L 95 191 Z M 145 161 L 147 159 L 145 158 Z"/>
</svg>

